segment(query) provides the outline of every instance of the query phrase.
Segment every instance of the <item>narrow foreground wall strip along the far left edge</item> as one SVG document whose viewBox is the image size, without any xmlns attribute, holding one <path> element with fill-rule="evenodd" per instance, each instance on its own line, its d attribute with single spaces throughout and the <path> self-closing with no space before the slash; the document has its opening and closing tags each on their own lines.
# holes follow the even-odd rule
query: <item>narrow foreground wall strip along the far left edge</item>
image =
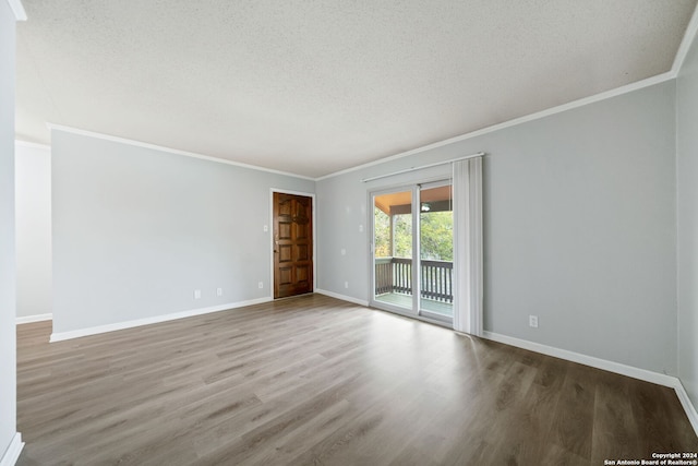
<svg viewBox="0 0 698 466">
<path fill-rule="evenodd" d="M 0 458 L 16 432 L 14 14 L 0 1 Z"/>
</svg>

